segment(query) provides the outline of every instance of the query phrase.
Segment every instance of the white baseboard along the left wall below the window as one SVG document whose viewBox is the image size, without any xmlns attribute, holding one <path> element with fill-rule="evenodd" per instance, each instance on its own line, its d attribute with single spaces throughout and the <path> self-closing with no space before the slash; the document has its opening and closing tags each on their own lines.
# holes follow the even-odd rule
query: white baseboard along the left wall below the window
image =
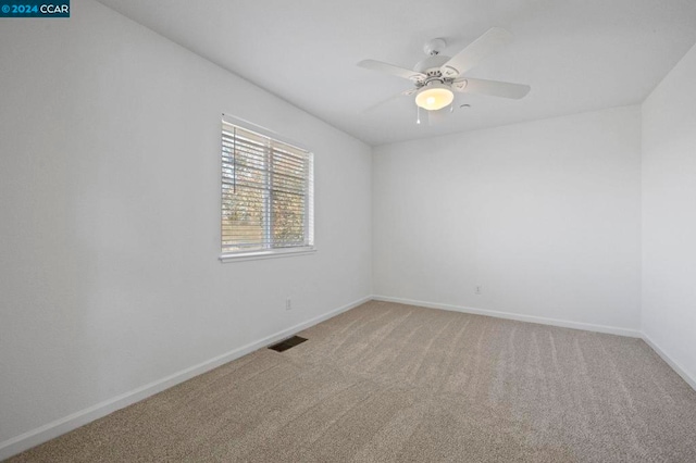
<svg viewBox="0 0 696 463">
<path fill-rule="evenodd" d="M 240 356 L 253 352 L 254 350 L 261 349 L 281 339 L 293 336 L 295 333 L 316 325 L 318 323 L 338 315 L 341 312 L 368 302 L 371 299 L 371 297 L 361 298 L 323 315 L 310 318 L 274 335 L 266 336 L 263 339 L 259 339 L 258 341 L 234 349 L 229 352 L 223 353 L 222 355 L 217 355 L 213 359 L 207 360 L 206 362 L 199 363 L 198 365 L 182 370 L 181 372 L 174 373 L 173 375 L 158 379 L 109 400 L 104 400 L 103 402 L 97 403 L 96 405 L 80 410 L 60 420 L 55 420 L 54 422 L 37 427 L 36 429 L 32 429 L 20 436 L 8 439 L 4 442 L 0 442 L 0 461 L 9 459 L 10 456 L 30 449 L 32 447 L 38 446 L 39 443 L 44 443 L 47 440 L 53 439 L 60 435 L 76 429 L 89 422 L 98 420 L 102 416 L 107 416 L 108 414 L 113 413 L 116 410 L 128 406 L 135 402 L 161 392 L 164 389 L 176 386 L 179 383 L 184 383 L 185 380 L 190 379 L 194 376 L 198 376 L 235 359 L 239 359 Z"/>
</svg>

